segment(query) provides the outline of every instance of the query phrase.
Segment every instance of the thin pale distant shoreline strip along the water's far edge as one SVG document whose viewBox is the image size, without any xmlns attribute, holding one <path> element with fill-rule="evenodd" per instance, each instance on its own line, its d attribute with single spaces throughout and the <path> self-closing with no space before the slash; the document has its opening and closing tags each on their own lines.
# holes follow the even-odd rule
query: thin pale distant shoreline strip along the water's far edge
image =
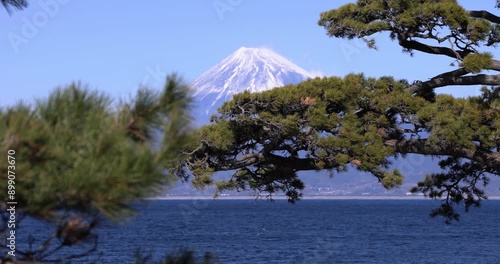
<svg viewBox="0 0 500 264">
<path fill-rule="evenodd" d="M 286 196 L 273 196 L 274 200 L 286 200 Z M 162 197 L 151 197 L 146 200 L 255 200 L 263 199 L 266 197 L 262 196 L 256 198 L 255 196 L 219 196 L 214 198 L 213 196 L 162 196 Z M 302 200 L 432 200 L 430 198 L 419 196 L 419 195 L 404 195 L 404 196 L 370 196 L 370 195 L 338 195 L 338 196 L 305 196 L 301 198 Z M 438 199 L 439 200 L 439 199 Z M 488 200 L 500 200 L 500 196 L 490 196 Z"/>
</svg>

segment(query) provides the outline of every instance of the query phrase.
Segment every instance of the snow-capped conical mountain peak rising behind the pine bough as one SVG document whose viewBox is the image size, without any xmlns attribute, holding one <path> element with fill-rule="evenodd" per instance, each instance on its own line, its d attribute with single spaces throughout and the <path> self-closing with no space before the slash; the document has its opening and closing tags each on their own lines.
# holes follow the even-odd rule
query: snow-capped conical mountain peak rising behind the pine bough
<svg viewBox="0 0 500 264">
<path fill-rule="evenodd" d="M 208 121 L 234 94 L 265 91 L 317 76 L 270 49 L 241 47 L 204 72 L 191 87 L 198 106 L 196 112 Z"/>
</svg>

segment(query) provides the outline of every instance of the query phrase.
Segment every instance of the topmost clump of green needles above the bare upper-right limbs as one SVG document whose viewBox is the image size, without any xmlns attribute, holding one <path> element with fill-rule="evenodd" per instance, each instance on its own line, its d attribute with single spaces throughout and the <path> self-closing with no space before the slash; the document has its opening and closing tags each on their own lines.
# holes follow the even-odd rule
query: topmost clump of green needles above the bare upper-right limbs
<svg viewBox="0 0 500 264">
<path fill-rule="evenodd" d="M 486 41 L 491 30 L 489 23 L 471 17 L 456 0 L 358 0 L 323 12 L 319 25 L 330 36 L 350 39 L 382 31 L 389 31 L 398 41 L 430 38 L 441 43 L 461 39 L 464 51 Z M 436 34 L 442 27 L 451 31 L 450 36 Z M 412 51 L 411 47 L 404 48 Z"/>
</svg>

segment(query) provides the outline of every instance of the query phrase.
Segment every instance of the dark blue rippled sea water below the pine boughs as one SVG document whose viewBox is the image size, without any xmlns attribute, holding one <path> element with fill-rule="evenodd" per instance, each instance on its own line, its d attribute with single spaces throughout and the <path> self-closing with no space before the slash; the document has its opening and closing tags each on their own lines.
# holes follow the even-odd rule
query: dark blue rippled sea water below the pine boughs
<svg viewBox="0 0 500 264">
<path fill-rule="evenodd" d="M 133 263 L 136 250 L 159 259 L 188 248 L 200 255 L 210 251 L 223 263 L 500 264 L 500 201 L 486 201 L 452 225 L 429 217 L 438 205 L 430 200 L 149 201 L 137 205 L 139 215 L 128 222 L 99 227 L 99 251 L 73 263 Z"/>
</svg>

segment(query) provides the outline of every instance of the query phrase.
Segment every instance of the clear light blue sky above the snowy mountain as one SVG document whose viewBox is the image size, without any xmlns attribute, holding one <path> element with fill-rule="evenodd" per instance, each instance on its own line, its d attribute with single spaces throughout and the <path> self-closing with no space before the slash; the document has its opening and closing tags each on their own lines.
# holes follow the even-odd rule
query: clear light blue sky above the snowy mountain
<svg viewBox="0 0 500 264">
<path fill-rule="evenodd" d="M 192 81 L 241 46 L 271 48 L 328 76 L 364 72 L 412 81 L 452 70 L 448 58 L 403 54 L 386 35 L 377 36 L 379 51 L 327 37 L 319 14 L 348 2 L 40 0 L 11 16 L 1 9 L 0 106 L 32 102 L 75 80 L 116 97 L 140 84 L 159 88 L 165 73 Z M 459 2 L 499 11 L 493 0 Z"/>
</svg>

